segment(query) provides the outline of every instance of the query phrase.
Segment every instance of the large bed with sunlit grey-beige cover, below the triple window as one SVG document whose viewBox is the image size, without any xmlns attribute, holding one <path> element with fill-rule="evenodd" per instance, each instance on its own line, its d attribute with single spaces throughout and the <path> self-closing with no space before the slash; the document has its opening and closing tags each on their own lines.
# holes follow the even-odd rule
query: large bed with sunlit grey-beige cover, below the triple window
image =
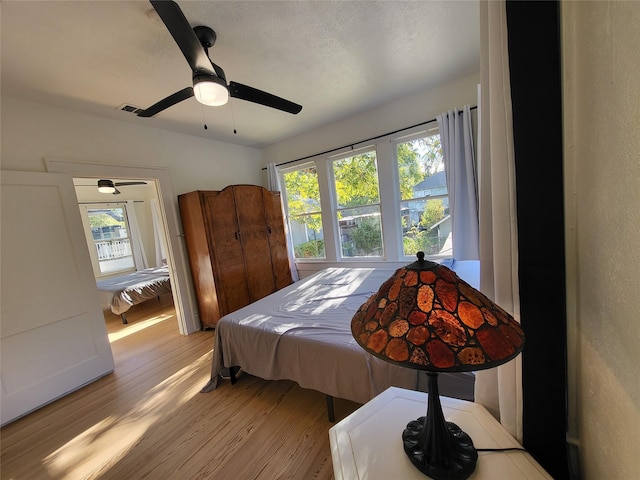
<svg viewBox="0 0 640 480">
<path fill-rule="evenodd" d="M 424 374 L 370 355 L 351 335 L 353 314 L 393 272 L 327 268 L 225 315 L 216 325 L 211 379 L 202 391 L 215 390 L 240 368 L 326 394 L 330 418 L 332 397 L 366 403 L 390 386 L 424 391 Z M 472 395 L 473 377 L 452 375 L 452 388 L 468 392 L 471 382 Z M 469 396 L 448 392 L 446 384 L 443 395 Z"/>
</svg>

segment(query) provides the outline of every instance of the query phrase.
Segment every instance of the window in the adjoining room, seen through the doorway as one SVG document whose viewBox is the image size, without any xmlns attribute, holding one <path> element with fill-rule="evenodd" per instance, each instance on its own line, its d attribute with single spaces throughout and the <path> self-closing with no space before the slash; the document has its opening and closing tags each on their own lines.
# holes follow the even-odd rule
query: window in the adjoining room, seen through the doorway
<svg viewBox="0 0 640 480">
<path fill-rule="evenodd" d="M 96 276 L 135 270 L 124 206 L 86 206 Z"/>
</svg>

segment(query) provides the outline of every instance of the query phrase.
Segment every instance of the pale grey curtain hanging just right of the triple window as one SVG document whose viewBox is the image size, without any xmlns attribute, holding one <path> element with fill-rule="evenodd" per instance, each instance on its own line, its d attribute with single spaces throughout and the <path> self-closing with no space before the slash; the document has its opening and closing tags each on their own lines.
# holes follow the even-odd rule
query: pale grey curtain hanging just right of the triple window
<svg viewBox="0 0 640 480">
<path fill-rule="evenodd" d="M 453 232 L 453 257 L 478 260 L 478 182 L 473 151 L 471 108 L 449 110 L 436 116 L 444 153 Z"/>
</svg>

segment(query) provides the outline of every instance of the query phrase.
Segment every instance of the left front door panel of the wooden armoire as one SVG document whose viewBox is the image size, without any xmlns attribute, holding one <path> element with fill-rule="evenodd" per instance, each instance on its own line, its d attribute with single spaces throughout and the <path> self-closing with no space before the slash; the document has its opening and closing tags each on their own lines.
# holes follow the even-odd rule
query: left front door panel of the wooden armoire
<svg viewBox="0 0 640 480">
<path fill-rule="evenodd" d="M 233 190 L 202 192 L 203 215 L 209 231 L 209 250 L 218 288 L 220 312 L 225 315 L 251 302 L 244 266 L 240 227 Z"/>
</svg>

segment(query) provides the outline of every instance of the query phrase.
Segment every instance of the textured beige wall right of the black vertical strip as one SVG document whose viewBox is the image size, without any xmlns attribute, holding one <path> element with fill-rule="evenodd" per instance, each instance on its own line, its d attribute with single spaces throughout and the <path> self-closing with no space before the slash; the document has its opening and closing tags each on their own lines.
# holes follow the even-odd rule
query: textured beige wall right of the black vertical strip
<svg viewBox="0 0 640 480">
<path fill-rule="evenodd" d="M 640 8 L 562 2 L 570 431 L 640 478 Z"/>
</svg>

